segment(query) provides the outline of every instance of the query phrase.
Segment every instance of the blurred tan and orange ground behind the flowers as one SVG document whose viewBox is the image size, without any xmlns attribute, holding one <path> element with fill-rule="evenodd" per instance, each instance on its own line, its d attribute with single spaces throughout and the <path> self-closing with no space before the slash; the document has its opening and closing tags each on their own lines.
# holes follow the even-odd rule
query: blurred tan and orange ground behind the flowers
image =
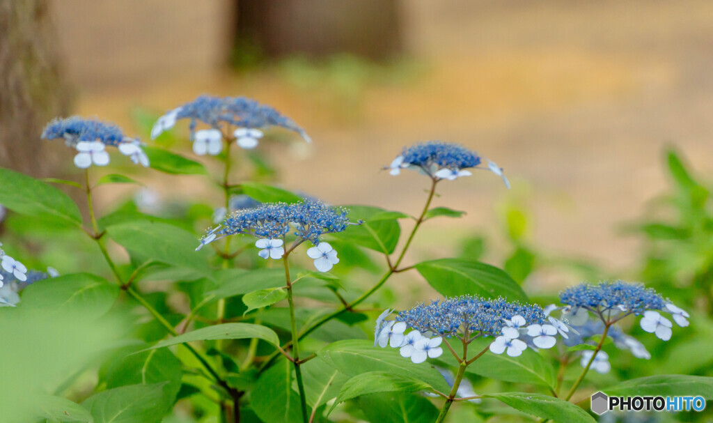
<svg viewBox="0 0 713 423">
<path fill-rule="evenodd" d="M 157 2 L 164 9 L 165 3 Z M 135 106 L 163 113 L 200 93 L 252 96 L 292 116 L 314 139 L 309 150 L 272 149 L 287 188 L 332 203 L 410 213 L 421 209 L 427 181 L 379 171 L 402 146 L 455 141 L 503 166 L 513 183 L 508 194 L 484 172 L 441 185 L 436 205 L 468 215 L 442 219 L 441 226 L 434 220 L 436 227 L 417 238 L 422 252 L 451 245 L 463 225 L 497 232 L 496 204 L 514 195 L 533 210 L 537 245 L 624 266 L 635 258 L 636 241 L 617 235 L 616 227 L 640 215 L 665 187 L 663 148 L 677 146 L 694 168 L 713 177 L 710 2 L 404 1 L 416 71 L 407 70 L 396 83 L 347 78 L 346 88 L 337 81 L 337 94 L 329 80 L 295 83 L 294 70 L 284 66 L 237 75 L 217 71 L 215 46 L 209 42 L 196 52 L 220 39 L 213 25 L 224 11 L 220 1 L 206 2 L 205 16 L 182 15 L 176 6 L 172 19 L 159 11 L 137 18 L 131 7 L 119 6 L 125 3 L 111 4 L 111 21 L 123 24 L 116 25 L 123 32 L 90 32 L 78 26 L 78 16 L 58 13 L 65 48 L 76 44 L 85 52 L 69 60 L 80 89 L 78 113 L 129 128 Z M 105 13 L 100 9 L 93 13 Z M 202 35 L 181 38 L 181 29 L 194 26 Z M 148 31 L 149 39 L 139 36 Z M 120 55 L 118 68 L 96 78 L 76 71 L 108 61 L 82 43 L 111 46 Z M 178 54 L 185 64 L 162 68 L 151 53 L 151 74 L 135 75 L 127 63 L 156 51 L 148 46 L 160 46 L 155 54 L 165 63 L 175 63 Z M 200 193 L 197 185 L 166 179 L 174 190 L 190 191 L 185 195 Z"/>
</svg>

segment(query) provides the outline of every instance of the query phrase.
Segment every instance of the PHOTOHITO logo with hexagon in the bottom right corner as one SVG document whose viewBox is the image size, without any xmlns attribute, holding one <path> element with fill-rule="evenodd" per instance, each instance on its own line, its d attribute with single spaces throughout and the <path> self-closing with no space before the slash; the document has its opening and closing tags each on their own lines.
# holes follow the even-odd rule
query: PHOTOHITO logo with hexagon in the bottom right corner
<svg viewBox="0 0 713 423">
<path fill-rule="evenodd" d="M 609 397 L 604 392 L 592 395 L 592 411 L 602 415 L 619 407 L 622 411 L 703 411 L 704 397 Z"/>
</svg>

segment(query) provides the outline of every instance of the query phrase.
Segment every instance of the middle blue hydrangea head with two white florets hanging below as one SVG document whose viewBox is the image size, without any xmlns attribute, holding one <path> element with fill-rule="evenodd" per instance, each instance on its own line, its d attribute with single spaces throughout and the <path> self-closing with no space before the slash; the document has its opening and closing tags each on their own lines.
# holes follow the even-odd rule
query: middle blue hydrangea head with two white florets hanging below
<svg viewBox="0 0 713 423">
<path fill-rule="evenodd" d="M 258 255 L 266 260 L 277 260 L 286 252 L 285 238 L 292 234 L 297 239 L 287 253 L 309 241 L 314 247 L 307 250 L 307 255 L 314 260 L 314 267 L 320 272 L 328 272 L 339 263 L 339 258 L 332 245 L 320 238 L 325 233 L 346 230 L 352 224 L 347 218 L 348 213 L 345 208 L 333 207 L 313 199 L 292 204 L 265 203 L 229 215 L 203 236 L 196 250 L 229 235 L 252 235 L 259 238 L 255 242 L 255 246 L 260 248 Z"/>
</svg>

